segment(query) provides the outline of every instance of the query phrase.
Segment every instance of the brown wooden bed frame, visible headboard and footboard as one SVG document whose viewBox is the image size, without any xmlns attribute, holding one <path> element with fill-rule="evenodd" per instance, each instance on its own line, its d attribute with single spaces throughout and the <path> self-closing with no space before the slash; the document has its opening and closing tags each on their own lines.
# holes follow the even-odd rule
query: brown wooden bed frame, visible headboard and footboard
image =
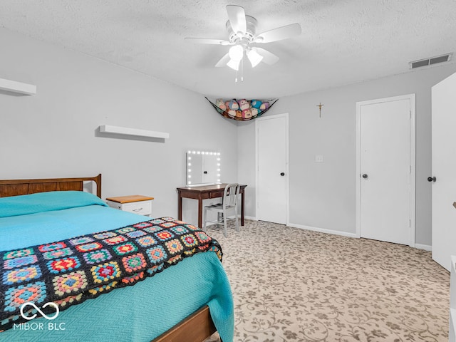
<svg viewBox="0 0 456 342">
<path fill-rule="evenodd" d="M 0 180 L 0 197 L 35 194 L 48 191 L 83 191 L 84 182 L 97 185 L 97 196 L 101 198 L 101 174 L 95 177 L 45 178 L 36 180 Z M 202 342 L 216 330 L 209 306 L 195 311 L 170 330 L 162 333 L 153 342 L 188 341 Z"/>
</svg>

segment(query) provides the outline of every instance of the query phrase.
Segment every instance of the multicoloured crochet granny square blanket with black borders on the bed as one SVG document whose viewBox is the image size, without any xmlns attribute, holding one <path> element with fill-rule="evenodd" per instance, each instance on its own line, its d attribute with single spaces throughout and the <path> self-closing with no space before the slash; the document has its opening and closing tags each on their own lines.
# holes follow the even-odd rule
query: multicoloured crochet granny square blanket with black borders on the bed
<svg viewBox="0 0 456 342">
<path fill-rule="evenodd" d="M 219 243 L 202 229 L 162 217 L 0 252 L 0 331 L 33 316 L 33 306 L 43 314 L 55 313 L 54 305 L 44 307 L 53 302 L 63 311 L 206 251 L 222 261 Z"/>
</svg>

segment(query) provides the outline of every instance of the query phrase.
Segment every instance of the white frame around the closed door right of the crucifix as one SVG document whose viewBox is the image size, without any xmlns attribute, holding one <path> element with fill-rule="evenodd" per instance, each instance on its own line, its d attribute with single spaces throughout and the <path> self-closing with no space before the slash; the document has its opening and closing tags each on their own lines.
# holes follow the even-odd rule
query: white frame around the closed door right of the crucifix
<svg viewBox="0 0 456 342">
<path fill-rule="evenodd" d="M 410 100 L 410 227 L 409 246 L 415 247 L 416 140 L 415 94 L 378 98 L 356 103 L 356 237 L 361 237 L 361 106 L 375 103 Z"/>
</svg>

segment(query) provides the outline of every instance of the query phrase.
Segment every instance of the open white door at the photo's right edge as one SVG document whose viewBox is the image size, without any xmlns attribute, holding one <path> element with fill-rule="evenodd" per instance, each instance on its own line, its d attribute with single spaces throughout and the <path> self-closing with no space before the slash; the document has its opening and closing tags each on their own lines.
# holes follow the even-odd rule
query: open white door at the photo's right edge
<svg viewBox="0 0 456 342">
<path fill-rule="evenodd" d="M 432 259 L 456 255 L 456 73 L 432 87 Z"/>
</svg>

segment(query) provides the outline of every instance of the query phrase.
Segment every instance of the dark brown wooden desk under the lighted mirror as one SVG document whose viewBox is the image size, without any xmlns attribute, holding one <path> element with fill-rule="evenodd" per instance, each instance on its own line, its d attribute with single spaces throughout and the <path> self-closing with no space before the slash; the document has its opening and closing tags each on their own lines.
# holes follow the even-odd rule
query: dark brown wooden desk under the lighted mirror
<svg viewBox="0 0 456 342">
<path fill-rule="evenodd" d="M 227 184 L 204 185 L 202 187 L 178 187 L 177 206 L 178 219 L 182 219 L 182 198 L 198 199 L 198 227 L 202 228 L 202 200 L 208 198 L 223 197 L 223 192 Z M 244 225 L 244 190 L 247 185 L 241 185 L 241 225 Z"/>
</svg>

